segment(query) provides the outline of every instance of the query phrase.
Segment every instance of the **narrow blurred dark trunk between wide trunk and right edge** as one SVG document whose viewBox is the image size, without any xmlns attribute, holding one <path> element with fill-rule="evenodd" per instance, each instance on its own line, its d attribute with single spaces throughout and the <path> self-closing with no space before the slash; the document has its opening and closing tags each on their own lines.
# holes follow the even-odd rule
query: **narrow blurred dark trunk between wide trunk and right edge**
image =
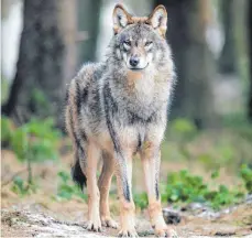
<svg viewBox="0 0 252 238">
<path fill-rule="evenodd" d="M 234 40 L 234 0 L 220 1 L 220 15 L 224 32 L 224 45 L 219 57 L 219 71 L 222 74 L 237 74 L 237 56 Z"/>
</svg>

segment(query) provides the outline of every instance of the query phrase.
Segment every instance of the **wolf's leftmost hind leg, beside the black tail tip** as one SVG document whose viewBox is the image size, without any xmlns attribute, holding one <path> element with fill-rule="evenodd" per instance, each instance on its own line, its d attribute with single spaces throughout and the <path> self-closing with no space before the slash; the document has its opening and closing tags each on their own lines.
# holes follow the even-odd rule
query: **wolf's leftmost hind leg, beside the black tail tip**
<svg viewBox="0 0 252 238">
<path fill-rule="evenodd" d="M 87 229 L 94 231 L 101 231 L 101 221 L 99 214 L 100 193 L 97 186 L 97 163 L 100 156 L 100 149 L 94 143 L 87 144 L 87 160 L 80 161 L 80 166 L 87 176 L 87 192 L 88 192 L 88 221 Z"/>
</svg>

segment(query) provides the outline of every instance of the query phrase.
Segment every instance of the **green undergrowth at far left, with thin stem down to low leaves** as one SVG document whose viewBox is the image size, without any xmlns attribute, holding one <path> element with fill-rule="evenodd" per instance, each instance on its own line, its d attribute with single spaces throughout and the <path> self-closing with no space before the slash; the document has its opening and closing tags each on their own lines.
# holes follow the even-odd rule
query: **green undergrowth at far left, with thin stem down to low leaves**
<svg viewBox="0 0 252 238">
<path fill-rule="evenodd" d="M 32 119 L 17 127 L 9 118 L 1 117 L 1 144 L 12 150 L 17 159 L 26 163 L 28 181 L 13 177 L 12 191 L 25 195 L 35 192 L 32 164 L 58 158 L 58 141 L 62 132 L 54 127 L 54 120 Z"/>
</svg>

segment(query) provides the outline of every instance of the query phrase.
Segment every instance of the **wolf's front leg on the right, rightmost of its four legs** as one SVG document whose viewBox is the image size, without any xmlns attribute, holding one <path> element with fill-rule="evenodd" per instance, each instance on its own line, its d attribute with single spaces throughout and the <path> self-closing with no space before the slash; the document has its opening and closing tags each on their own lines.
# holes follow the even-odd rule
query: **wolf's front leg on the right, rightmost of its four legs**
<svg viewBox="0 0 252 238">
<path fill-rule="evenodd" d="M 164 221 L 161 195 L 158 192 L 158 176 L 161 153 L 160 145 L 146 141 L 145 148 L 141 153 L 141 160 L 144 171 L 144 180 L 149 198 L 149 214 L 152 227 L 155 229 L 155 235 L 158 237 L 173 237 L 175 232 L 169 229 Z"/>
</svg>

